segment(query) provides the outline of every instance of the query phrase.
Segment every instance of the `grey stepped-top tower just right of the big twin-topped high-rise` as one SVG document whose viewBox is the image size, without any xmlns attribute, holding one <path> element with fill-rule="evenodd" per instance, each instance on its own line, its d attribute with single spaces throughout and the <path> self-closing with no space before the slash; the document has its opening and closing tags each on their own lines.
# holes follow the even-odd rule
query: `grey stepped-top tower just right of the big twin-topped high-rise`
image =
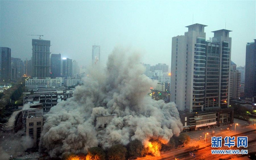
<svg viewBox="0 0 256 160">
<path fill-rule="evenodd" d="M 241 73 L 236 70 L 236 64 L 231 61 L 230 65 L 230 81 L 229 81 L 230 99 L 240 98 Z"/>
</svg>

